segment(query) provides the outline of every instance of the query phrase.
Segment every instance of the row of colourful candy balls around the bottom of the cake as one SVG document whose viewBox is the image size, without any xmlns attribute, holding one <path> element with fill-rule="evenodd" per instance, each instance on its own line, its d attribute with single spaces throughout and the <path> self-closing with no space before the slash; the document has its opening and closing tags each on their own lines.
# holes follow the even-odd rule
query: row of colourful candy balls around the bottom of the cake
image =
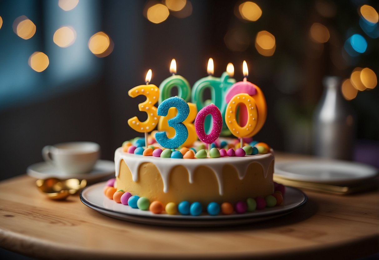
<svg viewBox="0 0 379 260">
<path fill-rule="evenodd" d="M 133 196 L 130 192 L 117 190 L 114 188 L 114 181 L 115 179 L 108 180 L 106 186 L 104 187 L 104 194 L 108 197 L 108 199 L 113 199 L 116 203 L 121 203 L 140 210 L 149 210 L 154 214 L 161 214 L 165 211 L 166 214 L 169 215 L 175 215 L 179 212 L 181 215 L 199 216 L 203 212 L 203 207 L 200 202 L 193 202 L 191 204 L 188 201 L 182 201 L 178 205 L 174 202 L 169 202 L 166 206 L 158 200 L 150 203 L 150 200 L 147 197 L 139 197 L 136 195 Z M 245 212 L 252 212 L 254 210 L 262 210 L 266 207 L 279 206 L 283 203 L 285 186 L 278 183 L 274 184 L 274 193 L 266 196 L 265 198 L 248 198 L 246 202 L 238 201 L 234 207 L 229 202 L 224 202 L 221 205 L 217 202 L 210 202 L 207 205 L 207 213 L 211 216 L 219 215 L 220 212 L 223 215 L 230 215 L 234 211 L 237 214 L 242 214 Z"/>
</svg>

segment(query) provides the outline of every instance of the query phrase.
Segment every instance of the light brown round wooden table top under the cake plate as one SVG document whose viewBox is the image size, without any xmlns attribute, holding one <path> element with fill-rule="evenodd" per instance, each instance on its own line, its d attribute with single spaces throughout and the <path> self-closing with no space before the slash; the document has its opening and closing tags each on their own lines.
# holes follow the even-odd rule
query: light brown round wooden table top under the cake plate
<svg viewBox="0 0 379 260">
<path fill-rule="evenodd" d="M 276 155 L 277 161 L 288 157 Z M 306 191 L 289 215 L 244 226 L 185 229 L 120 221 L 44 197 L 26 175 L 0 183 L 0 246 L 37 258 L 350 259 L 379 251 L 379 192 Z"/>
</svg>

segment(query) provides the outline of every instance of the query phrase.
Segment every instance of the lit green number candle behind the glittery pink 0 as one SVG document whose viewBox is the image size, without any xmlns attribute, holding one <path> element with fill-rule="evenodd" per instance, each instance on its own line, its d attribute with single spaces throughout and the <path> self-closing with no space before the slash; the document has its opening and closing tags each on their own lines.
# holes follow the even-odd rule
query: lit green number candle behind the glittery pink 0
<svg viewBox="0 0 379 260">
<path fill-rule="evenodd" d="M 229 64 L 228 64 L 229 65 Z M 226 103 L 225 94 L 228 89 L 236 82 L 233 77 L 234 68 L 229 65 L 228 72 L 223 72 L 221 78 L 213 77 L 214 65 L 213 59 L 208 60 L 207 72 L 208 77 L 201 78 L 195 82 L 192 89 L 192 101 L 196 103 L 197 110 L 202 109 L 209 103 L 209 101 L 204 101 L 204 91 L 205 89 L 210 89 L 211 91 L 211 103 L 215 104 L 216 107 L 221 111 L 222 117 L 225 115 Z M 205 120 L 204 123 L 205 132 L 209 132 L 211 129 L 210 118 Z M 223 125 L 223 129 L 227 132 L 227 126 Z"/>
</svg>

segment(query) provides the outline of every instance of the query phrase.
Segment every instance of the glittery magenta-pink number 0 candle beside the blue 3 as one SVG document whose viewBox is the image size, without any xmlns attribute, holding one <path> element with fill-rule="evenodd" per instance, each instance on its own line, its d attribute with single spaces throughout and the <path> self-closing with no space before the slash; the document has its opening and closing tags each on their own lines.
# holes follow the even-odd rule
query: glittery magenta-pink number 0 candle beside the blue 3
<svg viewBox="0 0 379 260">
<path fill-rule="evenodd" d="M 205 117 L 210 114 L 213 119 L 212 130 L 209 135 L 205 133 L 204 129 L 204 121 Z M 221 112 L 215 105 L 211 104 L 204 108 L 202 108 L 195 118 L 195 129 L 197 136 L 204 143 L 208 144 L 208 152 L 209 152 L 209 144 L 216 141 L 216 139 L 220 136 L 222 129 L 222 116 Z"/>
</svg>

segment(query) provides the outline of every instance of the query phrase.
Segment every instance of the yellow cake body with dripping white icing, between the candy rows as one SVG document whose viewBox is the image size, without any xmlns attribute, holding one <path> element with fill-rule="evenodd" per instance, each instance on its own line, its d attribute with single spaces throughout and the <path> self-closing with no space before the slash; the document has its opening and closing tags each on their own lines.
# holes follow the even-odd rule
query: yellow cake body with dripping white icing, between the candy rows
<svg viewBox="0 0 379 260">
<path fill-rule="evenodd" d="M 115 152 L 116 187 L 133 195 L 179 203 L 230 202 L 274 192 L 273 151 L 263 155 L 173 159 Z"/>
</svg>

